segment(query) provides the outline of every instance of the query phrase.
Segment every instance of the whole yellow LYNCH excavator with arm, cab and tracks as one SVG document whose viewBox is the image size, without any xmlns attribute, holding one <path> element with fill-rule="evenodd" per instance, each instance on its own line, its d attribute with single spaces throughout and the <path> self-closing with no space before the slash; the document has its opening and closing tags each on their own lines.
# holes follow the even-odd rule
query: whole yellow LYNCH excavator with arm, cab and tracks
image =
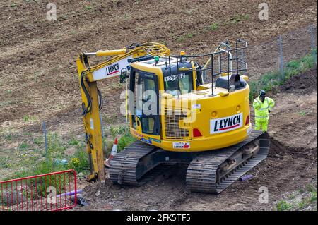
<svg viewBox="0 0 318 225">
<path fill-rule="evenodd" d="M 98 80 L 128 82 L 127 114 L 136 142 L 116 154 L 109 176 L 141 186 L 174 164 L 187 165 L 187 188 L 220 193 L 266 158 L 269 136 L 252 130 L 245 62 L 247 42 L 222 42 L 200 55 L 170 54 L 146 42 L 82 53 L 76 61 L 81 87 L 88 181 L 105 180 Z M 107 57 L 91 66 L 89 57 Z M 202 63 L 200 66 L 200 63 Z"/>
</svg>

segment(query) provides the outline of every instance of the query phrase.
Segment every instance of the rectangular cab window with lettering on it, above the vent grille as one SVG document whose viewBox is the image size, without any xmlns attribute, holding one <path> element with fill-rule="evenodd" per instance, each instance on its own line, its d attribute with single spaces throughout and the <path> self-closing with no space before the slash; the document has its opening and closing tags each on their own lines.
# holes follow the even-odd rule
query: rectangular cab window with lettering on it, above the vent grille
<svg viewBox="0 0 318 225">
<path fill-rule="evenodd" d="M 164 78 L 164 83 L 165 92 L 173 96 L 186 94 L 193 90 L 192 73 L 179 73 L 179 75 L 167 75 Z"/>
</svg>

